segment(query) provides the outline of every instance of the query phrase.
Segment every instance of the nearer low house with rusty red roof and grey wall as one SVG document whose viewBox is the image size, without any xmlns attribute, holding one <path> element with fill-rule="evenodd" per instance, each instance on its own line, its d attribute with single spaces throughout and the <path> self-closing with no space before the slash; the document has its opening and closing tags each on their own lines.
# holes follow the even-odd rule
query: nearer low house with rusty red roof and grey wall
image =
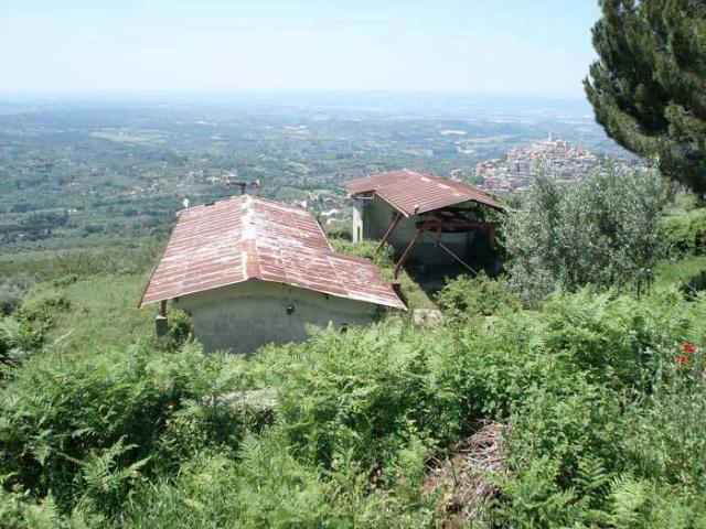
<svg viewBox="0 0 706 529">
<path fill-rule="evenodd" d="M 372 262 L 333 251 L 303 209 L 243 195 L 179 214 L 140 306 L 191 313 L 205 350 L 249 354 L 308 326 L 365 325 L 405 310 Z M 158 316 L 159 317 L 159 316 Z"/>
</svg>

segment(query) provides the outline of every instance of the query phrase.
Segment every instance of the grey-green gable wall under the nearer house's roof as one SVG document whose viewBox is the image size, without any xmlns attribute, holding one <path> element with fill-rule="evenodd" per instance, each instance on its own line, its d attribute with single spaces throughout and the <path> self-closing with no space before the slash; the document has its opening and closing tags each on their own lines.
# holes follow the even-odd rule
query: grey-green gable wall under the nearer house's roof
<svg viewBox="0 0 706 529">
<path fill-rule="evenodd" d="M 288 305 L 293 313 L 287 313 Z M 375 310 L 371 303 L 258 280 L 184 295 L 174 306 L 193 315 L 194 333 L 205 350 L 247 355 L 270 342 L 307 339 L 308 323 L 325 327 L 331 322 L 336 328 L 368 324 Z"/>
</svg>

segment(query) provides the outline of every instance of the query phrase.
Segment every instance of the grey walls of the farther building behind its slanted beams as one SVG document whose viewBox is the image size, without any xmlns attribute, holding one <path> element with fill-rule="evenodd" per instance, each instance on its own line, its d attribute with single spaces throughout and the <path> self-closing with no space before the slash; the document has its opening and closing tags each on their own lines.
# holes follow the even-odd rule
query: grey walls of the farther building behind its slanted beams
<svg viewBox="0 0 706 529">
<path fill-rule="evenodd" d="M 375 196 L 372 201 L 355 201 L 355 203 L 361 212 L 363 238 L 382 239 L 387 233 L 397 210 L 378 196 Z M 417 223 L 419 220 L 419 216 L 413 215 L 410 217 L 403 217 L 399 219 L 399 223 L 397 223 L 397 227 L 388 240 L 397 257 L 402 255 L 407 245 L 409 245 L 415 235 L 417 235 Z M 355 233 L 355 218 L 353 229 Z M 441 234 L 440 240 L 461 259 L 466 259 L 473 236 L 474 234 L 472 231 L 466 234 Z M 413 251 L 411 259 L 417 259 L 428 264 L 448 264 L 456 262 L 443 249 L 436 246 L 435 240 L 436 236 L 426 234 L 421 242 L 419 242 Z"/>
</svg>

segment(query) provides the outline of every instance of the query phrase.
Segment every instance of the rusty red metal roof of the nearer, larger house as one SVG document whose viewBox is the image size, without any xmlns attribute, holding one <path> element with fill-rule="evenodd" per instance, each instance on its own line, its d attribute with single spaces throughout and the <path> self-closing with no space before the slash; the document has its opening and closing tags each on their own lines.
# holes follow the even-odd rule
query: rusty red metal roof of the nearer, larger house
<svg viewBox="0 0 706 529">
<path fill-rule="evenodd" d="M 249 279 L 405 309 L 371 261 L 333 251 L 310 213 L 249 195 L 180 213 L 140 306 Z"/>
</svg>

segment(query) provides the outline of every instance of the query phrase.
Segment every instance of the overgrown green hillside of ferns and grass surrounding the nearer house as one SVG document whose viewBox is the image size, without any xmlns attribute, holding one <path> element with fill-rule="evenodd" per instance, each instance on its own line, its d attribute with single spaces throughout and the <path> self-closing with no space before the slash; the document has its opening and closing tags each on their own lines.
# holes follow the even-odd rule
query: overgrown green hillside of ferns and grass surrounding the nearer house
<svg viewBox="0 0 706 529">
<path fill-rule="evenodd" d="M 675 249 L 640 298 L 535 309 L 460 279 L 442 325 L 312 330 L 247 361 L 203 355 L 183 314 L 153 337 L 137 299 L 161 244 L 0 262 L 36 281 L 0 327 L 3 526 L 706 522 L 706 256 Z"/>
</svg>

